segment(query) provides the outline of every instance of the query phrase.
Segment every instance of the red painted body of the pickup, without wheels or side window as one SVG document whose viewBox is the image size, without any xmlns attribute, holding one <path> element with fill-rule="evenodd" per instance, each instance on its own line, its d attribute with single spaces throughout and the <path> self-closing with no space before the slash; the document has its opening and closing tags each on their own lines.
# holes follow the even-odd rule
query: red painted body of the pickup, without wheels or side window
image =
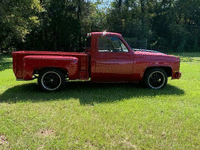
<svg viewBox="0 0 200 150">
<path fill-rule="evenodd" d="M 100 37 L 117 37 L 127 52 L 99 52 Z M 161 67 L 172 79 L 179 79 L 180 58 L 155 52 L 134 51 L 121 34 L 92 32 L 90 46 L 84 53 L 17 51 L 13 52 L 13 71 L 17 79 L 32 80 L 33 75 L 46 68 L 57 68 L 67 73 L 70 80 L 91 82 L 136 82 L 143 78 L 146 69 Z"/>
</svg>

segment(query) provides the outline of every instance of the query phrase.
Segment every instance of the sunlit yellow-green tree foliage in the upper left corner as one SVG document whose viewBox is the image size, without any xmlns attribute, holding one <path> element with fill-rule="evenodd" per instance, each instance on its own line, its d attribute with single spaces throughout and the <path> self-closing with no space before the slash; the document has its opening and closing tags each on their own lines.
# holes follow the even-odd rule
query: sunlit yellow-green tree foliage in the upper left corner
<svg viewBox="0 0 200 150">
<path fill-rule="evenodd" d="M 8 48 L 25 41 L 40 21 L 36 15 L 43 9 L 38 0 L 2 0 L 0 2 L 0 48 Z"/>
</svg>

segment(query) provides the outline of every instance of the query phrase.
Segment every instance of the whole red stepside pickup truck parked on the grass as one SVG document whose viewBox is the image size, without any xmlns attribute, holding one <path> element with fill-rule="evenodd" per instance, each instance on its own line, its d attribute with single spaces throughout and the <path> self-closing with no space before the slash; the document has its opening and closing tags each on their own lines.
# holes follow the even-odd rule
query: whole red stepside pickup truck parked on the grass
<svg viewBox="0 0 200 150">
<path fill-rule="evenodd" d="M 65 81 L 139 82 L 160 89 L 168 77 L 179 79 L 180 58 L 156 51 L 134 50 L 121 34 L 88 34 L 85 52 L 16 51 L 13 71 L 18 80 L 37 78 L 45 91 L 61 89 Z"/>
</svg>

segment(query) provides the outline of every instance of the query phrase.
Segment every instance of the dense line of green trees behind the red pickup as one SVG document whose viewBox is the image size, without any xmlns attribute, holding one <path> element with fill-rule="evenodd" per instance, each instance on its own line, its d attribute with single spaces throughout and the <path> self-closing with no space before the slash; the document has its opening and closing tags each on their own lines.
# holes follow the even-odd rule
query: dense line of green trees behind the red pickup
<svg viewBox="0 0 200 150">
<path fill-rule="evenodd" d="M 199 0 L 1 0 L 0 48 L 82 51 L 86 34 L 118 32 L 131 47 L 200 51 Z M 109 6 L 109 7 L 108 7 Z"/>
</svg>

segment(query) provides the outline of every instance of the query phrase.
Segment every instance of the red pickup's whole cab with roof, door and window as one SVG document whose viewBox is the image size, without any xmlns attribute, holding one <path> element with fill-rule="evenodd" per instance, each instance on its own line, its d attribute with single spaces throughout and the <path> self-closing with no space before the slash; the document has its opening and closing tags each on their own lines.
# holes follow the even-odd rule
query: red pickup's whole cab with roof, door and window
<svg viewBox="0 0 200 150">
<path fill-rule="evenodd" d="M 133 51 L 118 33 L 91 33 L 91 81 L 133 81 Z"/>
</svg>

